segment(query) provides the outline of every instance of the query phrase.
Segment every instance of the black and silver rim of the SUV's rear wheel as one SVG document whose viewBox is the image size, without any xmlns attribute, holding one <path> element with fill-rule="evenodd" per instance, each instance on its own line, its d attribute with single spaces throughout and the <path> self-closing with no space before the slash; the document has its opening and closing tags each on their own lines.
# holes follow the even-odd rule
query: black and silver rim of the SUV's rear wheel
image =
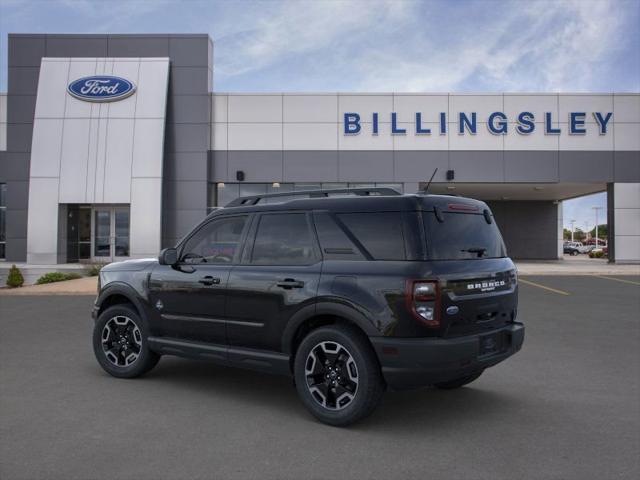
<svg viewBox="0 0 640 480">
<path fill-rule="evenodd" d="M 338 342 L 320 342 L 311 349 L 304 373 L 311 397 L 327 410 L 342 410 L 358 392 L 358 367 Z"/>
</svg>

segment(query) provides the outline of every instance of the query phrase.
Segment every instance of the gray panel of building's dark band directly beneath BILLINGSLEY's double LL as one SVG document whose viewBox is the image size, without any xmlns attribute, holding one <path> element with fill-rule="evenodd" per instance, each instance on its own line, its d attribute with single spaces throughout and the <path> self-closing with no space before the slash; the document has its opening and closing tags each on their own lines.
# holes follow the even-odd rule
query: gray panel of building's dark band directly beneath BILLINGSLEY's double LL
<svg viewBox="0 0 640 480">
<path fill-rule="evenodd" d="M 396 182 L 429 181 L 437 168 L 434 182 L 446 182 L 449 152 L 443 150 L 396 151 L 393 179 Z"/>
</svg>

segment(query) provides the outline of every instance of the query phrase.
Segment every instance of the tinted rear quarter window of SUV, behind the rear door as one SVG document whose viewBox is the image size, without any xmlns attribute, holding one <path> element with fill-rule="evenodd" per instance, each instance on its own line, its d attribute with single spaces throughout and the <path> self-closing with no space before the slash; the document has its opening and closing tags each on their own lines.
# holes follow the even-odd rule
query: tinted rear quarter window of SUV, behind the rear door
<svg viewBox="0 0 640 480">
<path fill-rule="evenodd" d="M 399 212 L 343 213 L 338 219 L 375 260 L 407 258 Z"/>
</svg>

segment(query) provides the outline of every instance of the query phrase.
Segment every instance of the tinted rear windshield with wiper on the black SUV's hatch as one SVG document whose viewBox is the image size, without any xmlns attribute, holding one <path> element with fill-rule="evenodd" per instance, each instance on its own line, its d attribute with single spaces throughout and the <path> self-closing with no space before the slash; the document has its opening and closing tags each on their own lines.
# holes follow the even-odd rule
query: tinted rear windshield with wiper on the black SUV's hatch
<svg viewBox="0 0 640 480">
<path fill-rule="evenodd" d="M 434 212 L 426 212 L 423 215 L 427 251 L 432 260 L 507 256 L 495 220 L 487 223 L 483 214 L 442 212 L 442 222 L 436 218 Z"/>
</svg>

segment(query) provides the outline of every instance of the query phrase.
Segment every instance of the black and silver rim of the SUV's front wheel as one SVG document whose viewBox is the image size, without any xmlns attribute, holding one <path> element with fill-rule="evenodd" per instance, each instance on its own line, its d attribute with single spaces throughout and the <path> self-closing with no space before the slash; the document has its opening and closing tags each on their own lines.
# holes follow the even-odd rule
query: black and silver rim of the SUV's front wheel
<svg viewBox="0 0 640 480">
<path fill-rule="evenodd" d="M 138 360 L 142 334 L 129 317 L 118 315 L 107 320 L 101 338 L 105 357 L 116 367 L 130 367 Z"/>
</svg>

